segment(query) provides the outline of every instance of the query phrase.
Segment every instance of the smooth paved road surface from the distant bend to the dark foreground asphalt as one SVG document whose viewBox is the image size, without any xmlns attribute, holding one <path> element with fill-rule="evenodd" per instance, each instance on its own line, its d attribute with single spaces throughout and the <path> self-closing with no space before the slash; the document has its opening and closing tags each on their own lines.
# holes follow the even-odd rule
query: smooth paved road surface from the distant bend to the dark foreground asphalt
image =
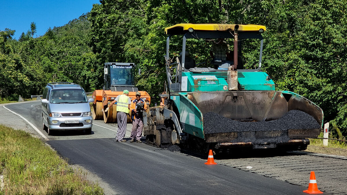
<svg viewBox="0 0 347 195">
<path fill-rule="evenodd" d="M 5 107 L 36 126 L 48 137 L 46 143 L 70 164 L 95 173 L 117 194 L 306 194 L 302 191 L 307 187 L 220 164 L 206 165 L 206 159 L 144 143 L 118 143 L 116 124 L 105 124 L 103 120 L 93 121 L 91 135 L 66 132 L 49 136 L 42 130 L 39 101 Z M 130 128 L 128 124 L 126 138 Z"/>
</svg>

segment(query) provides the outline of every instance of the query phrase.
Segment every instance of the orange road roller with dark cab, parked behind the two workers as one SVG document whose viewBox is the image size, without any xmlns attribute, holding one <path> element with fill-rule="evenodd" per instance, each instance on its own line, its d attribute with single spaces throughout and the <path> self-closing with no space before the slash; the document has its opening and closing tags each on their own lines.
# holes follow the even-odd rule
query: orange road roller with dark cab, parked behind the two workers
<svg viewBox="0 0 347 195">
<path fill-rule="evenodd" d="M 141 69 L 139 69 L 139 74 Z M 93 119 L 104 119 L 105 123 L 117 122 L 117 103 L 107 111 L 104 110 L 108 107 L 118 95 L 123 94 L 124 90 L 129 91 L 129 97 L 132 100 L 136 99 L 135 93 L 140 92 L 141 98 L 146 104 L 151 103 L 150 95 L 145 91 L 138 91 L 135 87 L 135 64 L 134 63 L 118 63 L 106 62 L 104 63 L 104 86 L 102 90 L 95 90 L 93 92 Z M 128 116 L 127 122 L 131 119 Z"/>
</svg>

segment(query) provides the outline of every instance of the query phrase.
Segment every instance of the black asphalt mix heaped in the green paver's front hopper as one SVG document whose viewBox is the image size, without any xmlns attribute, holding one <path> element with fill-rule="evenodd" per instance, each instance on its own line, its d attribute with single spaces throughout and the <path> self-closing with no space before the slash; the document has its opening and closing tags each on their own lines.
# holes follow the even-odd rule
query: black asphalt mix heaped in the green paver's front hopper
<svg viewBox="0 0 347 195">
<path fill-rule="evenodd" d="M 257 122 L 240 122 L 232 119 L 225 118 L 214 112 L 203 114 L 204 118 L 204 132 L 205 134 L 212 133 L 226 133 L 226 132 L 247 132 L 247 131 L 282 131 L 281 135 L 277 138 L 258 140 L 259 142 L 274 141 L 277 143 L 287 142 L 288 129 L 316 129 L 320 128 L 318 122 L 309 114 L 299 110 L 290 110 L 285 113 L 281 118 L 272 121 L 257 121 Z M 238 134 L 235 142 L 248 142 L 254 141 L 255 137 L 241 138 L 242 133 Z M 234 142 L 233 141 L 233 142 Z"/>
</svg>

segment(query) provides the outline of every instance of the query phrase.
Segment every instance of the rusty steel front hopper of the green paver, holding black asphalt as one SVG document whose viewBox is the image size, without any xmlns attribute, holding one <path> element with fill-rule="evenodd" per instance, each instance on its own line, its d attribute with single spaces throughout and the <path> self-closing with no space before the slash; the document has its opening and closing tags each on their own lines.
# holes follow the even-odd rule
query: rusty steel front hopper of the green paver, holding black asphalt
<svg viewBox="0 0 347 195">
<path fill-rule="evenodd" d="M 184 98 L 181 97 L 180 99 L 182 101 Z M 185 99 L 191 101 L 196 110 L 200 112 L 201 116 L 197 112 L 195 115 L 201 120 L 202 134 L 204 135 L 201 138 L 204 138 L 207 143 L 219 143 L 216 147 L 253 145 L 253 148 L 266 148 L 277 147 L 281 144 L 305 144 L 306 142 L 309 143 L 308 139 L 305 138 L 318 137 L 323 125 L 322 109 L 305 97 L 289 91 L 188 92 Z M 270 127 L 264 122 L 282 120 L 281 117 L 286 116 L 289 111 L 291 111 L 290 113 L 295 113 L 294 111 L 307 113 L 314 118 L 312 120 L 315 120 L 317 124 L 314 128 L 291 126 L 285 129 L 281 125 Z M 220 129 L 213 129 L 211 133 L 204 125 L 204 120 L 208 120 L 204 117 L 211 116 L 209 114 L 212 112 L 216 116 L 220 116 L 221 120 L 215 121 L 215 128 Z M 237 130 L 236 127 L 236 130 L 226 131 L 223 128 L 228 128 L 227 126 L 218 124 L 225 121 L 223 119 L 232 119 L 230 121 L 245 125 L 245 128 Z M 261 121 L 263 121 L 261 124 L 265 124 L 264 128 L 259 128 L 260 123 L 257 123 L 256 128 L 252 125 L 255 124 L 252 122 Z M 289 122 L 295 124 L 295 121 L 294 123 L 293 121 Z M 187 124 L 186 128 L 189 131 Z M 196 132 L 196 129 L 194 131 Z M 301 139 L 301 141 L 297 139 Z"/>
</svg>

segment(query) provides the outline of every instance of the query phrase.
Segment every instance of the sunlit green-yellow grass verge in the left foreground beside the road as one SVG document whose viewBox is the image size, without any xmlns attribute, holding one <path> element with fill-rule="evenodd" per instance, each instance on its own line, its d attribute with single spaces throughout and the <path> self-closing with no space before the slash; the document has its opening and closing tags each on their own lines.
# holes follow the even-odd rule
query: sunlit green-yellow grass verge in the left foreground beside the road
<svg viewBox="0 0 347 195">
<path fill-rule="evenodd" d="M 40 139 L 0 125 L 0 175 L 6 194 L 104 194 L 86 173 L 68 163 Z"/>
</svg>

